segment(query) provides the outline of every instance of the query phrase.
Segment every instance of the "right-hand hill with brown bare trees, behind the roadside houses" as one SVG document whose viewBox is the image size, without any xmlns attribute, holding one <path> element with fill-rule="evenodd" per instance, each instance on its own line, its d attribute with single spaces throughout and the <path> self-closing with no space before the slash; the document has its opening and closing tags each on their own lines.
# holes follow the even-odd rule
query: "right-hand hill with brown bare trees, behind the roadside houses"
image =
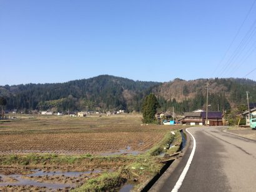
<svg viewBox="0 0 256 192">
<path fill-rule="evenodd" d="M 162 110 L 174 106 L 177 112 L 190 112 L 198 108 L 205 110 L 207 85 L 209 82 L 209 110 L 228 110 L 247 105 L 246 91 L 250 102 L 256 102 L 256 82 L 249 79 L 175 79 L 152 89 L 159 98 Z"/>
</svg>

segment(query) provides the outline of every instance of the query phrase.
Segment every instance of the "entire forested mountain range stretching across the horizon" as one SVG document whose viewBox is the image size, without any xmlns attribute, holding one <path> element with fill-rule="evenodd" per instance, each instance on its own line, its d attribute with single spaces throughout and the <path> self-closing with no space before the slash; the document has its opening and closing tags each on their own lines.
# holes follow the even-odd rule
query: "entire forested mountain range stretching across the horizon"
<svg viewBox="0 0 256 192">
<path fill-rule="evenodd" d="M 26 84 L 0 86 L 0 96 L 7 98 L 6 109 L 22 110 L 126 110 L 140 111 L 142 99 L 150 92 L 160 103 L 160 110 L 176 112 L 205 109 L 205 83 L 209 82 L 209 110 L 227 110 L 256 102 L 256 82 L 249 79 L 175 79 L 170 82 L 142 82 L 99 75 L 62 84 Z"/>
</svg>

